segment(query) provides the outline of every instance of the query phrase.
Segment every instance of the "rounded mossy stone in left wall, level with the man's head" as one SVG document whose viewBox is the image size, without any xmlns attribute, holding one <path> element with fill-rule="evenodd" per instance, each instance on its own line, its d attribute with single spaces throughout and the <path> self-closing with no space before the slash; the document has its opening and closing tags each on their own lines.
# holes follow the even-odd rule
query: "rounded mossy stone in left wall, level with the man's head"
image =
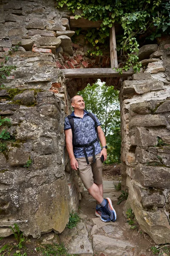
<svg viewBox="0 0 170 256">
<path fill-rule="evenodd" d="M 30 106 L 34 104 L 35 98 L 34 98 L 34 90 L 29 90 L 20 94 L 17 94 L 14 96 L 14 101 L 20 100 L 22 105 Z"/>
</svg>

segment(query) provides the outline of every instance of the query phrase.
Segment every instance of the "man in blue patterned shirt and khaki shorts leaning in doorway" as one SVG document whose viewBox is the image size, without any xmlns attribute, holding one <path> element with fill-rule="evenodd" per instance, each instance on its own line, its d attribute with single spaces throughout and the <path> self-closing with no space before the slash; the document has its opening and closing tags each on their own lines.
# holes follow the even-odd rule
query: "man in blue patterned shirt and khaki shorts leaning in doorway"
<svg viewBox="0 0 170 256">
<path fill-rule="evenodd" d="M 68 155 L 70 157 L 71 168 L 78 170 L 79 176 L 88 190 L 89 194 L 96 199 L 96 216 L 102 221 L 116 221 L 116 211 L 112 206 L 110 198 L 103 198 L 102 185 L 102 160 L 107 159 L 107 146 L 105 135 L 101 128 L 101 123 L 93 114 L 97 123 L 97 134 L 95 122 L 88 112 L 85 111 L 85 102 L 82 96 L 74 96 L 71 99 L 71 106 L 74 108 L 71 117 L 74 119 L 74 133 L 68 117 L 65 118 L 65 141 Z M 74 138 L 73 138 L 74 137 Z"/>
</svg>

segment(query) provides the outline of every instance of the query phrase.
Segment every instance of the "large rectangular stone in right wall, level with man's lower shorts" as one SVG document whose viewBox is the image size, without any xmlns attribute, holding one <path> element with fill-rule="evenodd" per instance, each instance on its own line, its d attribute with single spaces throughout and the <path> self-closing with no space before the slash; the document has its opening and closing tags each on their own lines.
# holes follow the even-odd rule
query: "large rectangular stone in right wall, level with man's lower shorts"
<svg viewBox="0 0 170 256">
<path fill-rule="evenodd" d="M 135 167 L 135 180 L 142 186 L 154 188 L 170 188 L 170 169 L 162 166 Z"/>
</svg>

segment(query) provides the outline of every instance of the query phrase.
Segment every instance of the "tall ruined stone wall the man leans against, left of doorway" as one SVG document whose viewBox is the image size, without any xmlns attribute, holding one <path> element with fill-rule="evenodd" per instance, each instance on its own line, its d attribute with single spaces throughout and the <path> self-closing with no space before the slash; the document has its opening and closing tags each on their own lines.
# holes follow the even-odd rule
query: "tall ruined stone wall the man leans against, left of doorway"
<svg viewBox="0 0 170 256">
<path fill-rule="evenodd" d="M 26 236 L 61 233 L 79 204 L 78 177 L 65 171 L 63 123 L 71 110 L 56 65 L 61 45 L 73 54 L 74 32 L 55 4 L 0 1 L 0 62 L 16 66 L 0 88 L 0 116 L 11 121 L 0 126 L 10 133 L 0 140 L 0 236 L 14 223 Z"/>
</svg>

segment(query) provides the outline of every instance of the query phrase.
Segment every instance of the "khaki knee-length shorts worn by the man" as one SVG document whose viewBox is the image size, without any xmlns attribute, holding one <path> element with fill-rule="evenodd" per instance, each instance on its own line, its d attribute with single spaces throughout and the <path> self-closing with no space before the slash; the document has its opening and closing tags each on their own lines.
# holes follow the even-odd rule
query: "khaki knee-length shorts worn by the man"
<svg viewBox="0 0 170 256">
<path fill-rule="evenodd" d="M 76 158 L 79 165 L 79 176 L 86 189 L 89 189 L 94 183 L 102 184 L 103 163 L 96 154 L 96 162 L 93 163 L 93 157 L 88 157 L 90 164 L 87 164 L 85 157 Z"/>
</svg>

